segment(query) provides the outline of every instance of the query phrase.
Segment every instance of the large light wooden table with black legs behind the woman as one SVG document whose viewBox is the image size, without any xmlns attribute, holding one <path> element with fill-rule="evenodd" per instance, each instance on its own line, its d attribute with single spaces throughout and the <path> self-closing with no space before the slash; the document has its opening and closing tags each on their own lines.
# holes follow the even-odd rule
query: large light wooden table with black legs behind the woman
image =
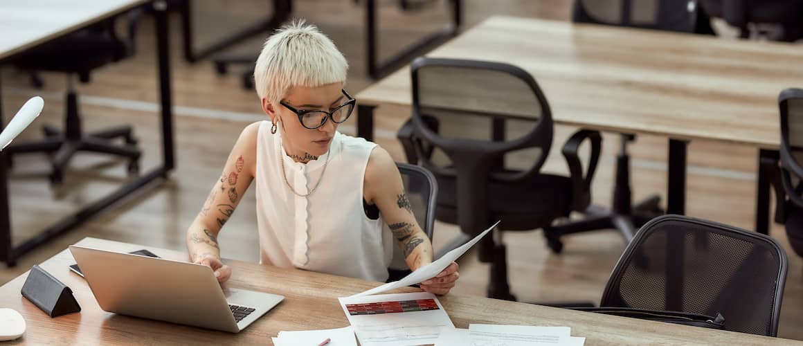
<svg viewBox="0 0 803 346">
<path fill-rule="evenodd" d="M 667 212 L 685 211 L 689 140 L 759 149 L 777 160 L 777 96 L 803 84 L 803 49 L 661 31 L 495 16 L 426 56 L 512 63 L 535 77 L 556 124 L 669 138 Z M 410 68 L 357 94 L 357 134 L 373 138 L 373 108 L 410 106 Z M 756 230 L 768 230 L 769 183 L 759 172 Z"/>
</svg>

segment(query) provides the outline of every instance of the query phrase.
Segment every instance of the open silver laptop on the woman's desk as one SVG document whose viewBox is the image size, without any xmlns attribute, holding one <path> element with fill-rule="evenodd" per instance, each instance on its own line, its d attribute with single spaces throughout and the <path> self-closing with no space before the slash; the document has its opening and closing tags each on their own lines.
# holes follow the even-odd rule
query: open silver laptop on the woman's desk
<svg viewBox="0 0 803 346">
<path fill-rule="evenodd" d="M 121 315 L 239 332 L 284 299 L 221 288 L 210 267 L 70 246 L 100 308 Z"/>
</svg>

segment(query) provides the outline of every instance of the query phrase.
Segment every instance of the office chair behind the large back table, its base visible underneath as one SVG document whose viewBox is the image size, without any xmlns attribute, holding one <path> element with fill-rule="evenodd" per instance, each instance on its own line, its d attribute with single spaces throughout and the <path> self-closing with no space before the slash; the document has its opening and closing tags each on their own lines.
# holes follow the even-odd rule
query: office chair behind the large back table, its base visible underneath
<svg viewBox="0 0 803 346">
<path fill-rule="evenodd" d="M 626 26 L 659 31 L 695 32 L 696 2 L 689 0 L 576 0 L 573 22 Z M 630 155 L 627 144 L 635 140 L 632 134 L 622 134 L 617 156 L 616 182 L 611 210 L 594 208 L 594 217 L 586 222 L 599 227 L 615 227 L 629 240 L 638 226 L 663 214 L 660 197 L 651 196 L 635 205 L 630 193 Z"/>
</svg>

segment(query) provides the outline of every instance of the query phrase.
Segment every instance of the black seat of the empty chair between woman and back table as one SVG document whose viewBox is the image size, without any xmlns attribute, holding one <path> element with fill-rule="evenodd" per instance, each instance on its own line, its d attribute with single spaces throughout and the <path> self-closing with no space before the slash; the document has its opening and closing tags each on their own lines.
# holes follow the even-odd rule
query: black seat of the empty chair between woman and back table
<svg viewBox="0 0 803 346">
<path fill-rule="evenodd" d="M 454 177 L 438 177 L 435 218 L 439 221 L 458 222 L 456 182 Z M 566 193 L 572 189 L 569 177 L 538 174 L 515 184 L 491 181 L 487 189 L 489 217 L 494 221 L 504 220 L 504 230 L 535 230 L 548 226 L 555 218 L 569 215 L 571 194 Z"/>
</svg>

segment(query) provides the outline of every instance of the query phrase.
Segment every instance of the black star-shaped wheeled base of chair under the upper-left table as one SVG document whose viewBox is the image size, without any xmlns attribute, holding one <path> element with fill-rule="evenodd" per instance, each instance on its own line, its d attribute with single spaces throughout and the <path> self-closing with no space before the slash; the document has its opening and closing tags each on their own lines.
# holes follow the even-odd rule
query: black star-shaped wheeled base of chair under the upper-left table
<svg viewBox="0 0 803 346">
<path fill-rule="evenodd" d="M 78 152 L 107 153 L 119 157 L 128 157 L 128 173 L 137 174 L 140 170 L 139 160 L 142 152 L 137 148 L 137 140 L 132 135 L 130 126 L 108 128 L 88 135 L 71 138 L 59 129 L 49 125 L 43 126 L 44 140 L 35 140 L 9 145 L 6 153 L 9 155 L 9 164 L 13 164 L 12 156 L 21 153 L 49 153 L 51 154 L 50 180 L 53 184 L 63 181 L 64 169 L 71 157 Z M 112 143 L 112 140 L 122 138 L 123 145 Z"/>
</svg>

